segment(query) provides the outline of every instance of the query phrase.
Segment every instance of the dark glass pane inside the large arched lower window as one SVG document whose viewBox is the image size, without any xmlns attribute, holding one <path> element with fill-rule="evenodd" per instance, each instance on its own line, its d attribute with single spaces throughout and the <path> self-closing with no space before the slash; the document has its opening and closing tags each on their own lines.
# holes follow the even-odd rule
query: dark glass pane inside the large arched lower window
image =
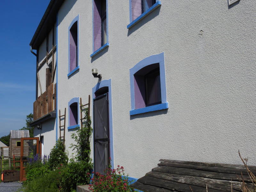
<svg viewBox="0 0 256 192">
<path fill-rule="evenodd" d="M 159 68 L 154 69 L 145 75 L 145 88 L 146 106 L 156 105 L 162 102 Z"/>
</svg>

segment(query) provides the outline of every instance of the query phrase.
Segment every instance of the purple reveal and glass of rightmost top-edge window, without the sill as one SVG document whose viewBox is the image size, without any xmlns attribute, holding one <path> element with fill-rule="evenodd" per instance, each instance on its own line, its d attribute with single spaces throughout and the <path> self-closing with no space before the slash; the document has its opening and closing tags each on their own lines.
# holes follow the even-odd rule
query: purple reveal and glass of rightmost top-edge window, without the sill
<svg viewBox="0 0 256 192">
<path fill-rule="evenodd" d="M 147 11 L 156 0 L 131 0 L 132 1 L 132 21 Z"/>
</svg>

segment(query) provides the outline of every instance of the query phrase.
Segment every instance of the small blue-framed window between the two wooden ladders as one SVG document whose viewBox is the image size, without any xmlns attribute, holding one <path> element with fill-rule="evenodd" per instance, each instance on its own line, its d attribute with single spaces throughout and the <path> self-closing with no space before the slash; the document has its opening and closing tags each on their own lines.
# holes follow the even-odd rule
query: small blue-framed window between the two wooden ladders
<svg viewBox="0 0 256 192">
<path fill-rule="evenodd" d="M 68 129 L 79 127 L 79 97 L 75 97 L 68 102 Z"/>
</svg>

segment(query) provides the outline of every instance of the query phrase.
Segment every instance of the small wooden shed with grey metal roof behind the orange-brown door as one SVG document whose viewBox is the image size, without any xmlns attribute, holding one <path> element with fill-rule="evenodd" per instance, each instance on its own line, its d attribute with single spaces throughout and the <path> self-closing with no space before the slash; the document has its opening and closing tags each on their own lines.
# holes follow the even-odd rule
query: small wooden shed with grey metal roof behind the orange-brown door
<svg viewBox="0 0 256 192">
<path fill-rule="evenodd" d="M 20 138 L 29 137 L 28 130 L 11 130 L 10 133 L 10 156 L 20 157 Z"/>
</svg>

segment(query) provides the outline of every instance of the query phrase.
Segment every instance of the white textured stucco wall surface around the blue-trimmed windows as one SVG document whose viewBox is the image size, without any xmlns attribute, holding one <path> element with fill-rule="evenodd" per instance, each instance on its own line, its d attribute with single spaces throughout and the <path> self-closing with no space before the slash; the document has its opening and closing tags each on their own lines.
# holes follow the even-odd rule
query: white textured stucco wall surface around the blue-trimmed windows
<svg viewBox="0 0 256 192">
<path fill-rule="evenodd" d="M 98 68 L 102 80 L 112 82 L 114 164 L 131 177 L 142 177 L 161 158 L 241 164 L 238 150 L 256 165 L 256 2 L 161 3 L 128 30 L 129 1 L 108 1 L 109 47 L 90 58 L 92 2 L 64 2 L 58 13 L 57 110 L 68 111 L 74 97 L 87 103 L 98 80 L 91 70 Z M 68 27 L 78 14 L 80 69 L 68 78 Z M 161 52 L 169 109 L 130 116 L 129 69 Z M 66 131 L 69 154 L 73 132 Z"/>
</svg>

